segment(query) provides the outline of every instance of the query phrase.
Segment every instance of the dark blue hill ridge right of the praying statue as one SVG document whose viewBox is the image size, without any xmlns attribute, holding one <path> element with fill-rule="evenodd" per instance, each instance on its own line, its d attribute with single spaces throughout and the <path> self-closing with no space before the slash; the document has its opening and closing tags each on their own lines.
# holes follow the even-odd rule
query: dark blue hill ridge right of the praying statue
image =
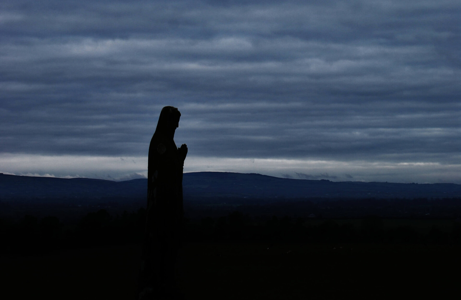
<svg viewBox="0 0 461 300">
<path fill-rule="evenodd" d="M 247 198 L 444 198 L 461 197 L 461 185 L 306 180 L 261 174 L 184 174 L 184 196 Z"/>
</svg>

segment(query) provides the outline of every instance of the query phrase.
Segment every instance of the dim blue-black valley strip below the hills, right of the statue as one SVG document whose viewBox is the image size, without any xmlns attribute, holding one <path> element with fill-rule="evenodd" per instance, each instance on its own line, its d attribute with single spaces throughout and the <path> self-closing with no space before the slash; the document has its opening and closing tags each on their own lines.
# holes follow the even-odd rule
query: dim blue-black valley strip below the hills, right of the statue
<svg viewBox="0 0 461 300">
<path fill-rule="evenodd" d="M 451 217 L 461 216 L 461 198 L 414 198 L 414 199 L 355 199 L 355 198 L 309 198 L 309 199 L 242 199 L 210 198 L 190 199 L 184 209 L 192 218 L 219 217 L 233 210 L 244 214 L 284 215 L 308 217 L 311 214 L 326 218 L 356 218 L 367 215 L 380 217 Z"/>
</svg>

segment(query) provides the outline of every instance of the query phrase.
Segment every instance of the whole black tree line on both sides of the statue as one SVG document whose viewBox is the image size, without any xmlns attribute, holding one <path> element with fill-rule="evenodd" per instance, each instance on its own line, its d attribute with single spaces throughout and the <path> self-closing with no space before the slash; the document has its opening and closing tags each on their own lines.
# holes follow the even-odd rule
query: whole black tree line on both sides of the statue
<svg viewBox="0 0 461 300">
<path fill-rule="evenodd" d="M 58 217 L 25 215 L 19 221 L 0 219 L 3 255 L 42 255 L 62 249 L 141 243 L 146 211 L 110 215 L 105 209 L 90 212 L 74 226 Z M 233 211 L 219 217 L 184 219 L 185 242 L 269 241 L 300 243 L 421 243 L 461 244 L 461 222 L 417 230 L 413 219 L 386 226 L 378 216 L 360 219 L 310 219 L 289 216 L 254 217 Z"/>
</svg>

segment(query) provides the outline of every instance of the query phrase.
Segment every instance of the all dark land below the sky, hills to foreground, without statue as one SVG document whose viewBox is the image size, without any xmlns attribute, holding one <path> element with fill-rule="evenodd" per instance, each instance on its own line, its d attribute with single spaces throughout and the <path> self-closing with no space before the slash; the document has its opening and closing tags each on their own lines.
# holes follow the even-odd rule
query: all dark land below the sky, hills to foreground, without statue
<svg viewBox="0 0 461 300">
<path fill-rule="evenodd" d="M 213 298 L 221 289 L 230 289 L 224 299 L 303 299 L 455 287 L 445 270 L 459 266 L 461 185 L 219 172 L 186 173 L 183 182 L 177 277 L 190 299 Z M 77 282 L 81 288 L 69 299 L 89 290 L 131 299 L 146 185 L 0 175 L 6 272 L 24 277 L 34 265 L 40 271 L 23 280 L 43 292 L 43 280 L 59 283 L 52 298 Z M 89 276 L 72 275 L 82 272 Z"/>
</svg>

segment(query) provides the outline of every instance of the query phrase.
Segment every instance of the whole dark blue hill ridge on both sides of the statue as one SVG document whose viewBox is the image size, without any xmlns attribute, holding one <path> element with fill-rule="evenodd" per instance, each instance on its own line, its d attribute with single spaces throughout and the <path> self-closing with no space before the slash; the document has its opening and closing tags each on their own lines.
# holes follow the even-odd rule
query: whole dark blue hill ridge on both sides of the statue
<svg viewBox="0 0 461 300">
<path fill-rule="evenodd" d="M 0 198 L 143 198 L 147 179 L 110 181 L 0 175 Z M 388 183 L 279 178 L 231 172 L 184 173 L 183 193 L 193 198 L 453 198 L 454 183 Z"/>
</svg>

